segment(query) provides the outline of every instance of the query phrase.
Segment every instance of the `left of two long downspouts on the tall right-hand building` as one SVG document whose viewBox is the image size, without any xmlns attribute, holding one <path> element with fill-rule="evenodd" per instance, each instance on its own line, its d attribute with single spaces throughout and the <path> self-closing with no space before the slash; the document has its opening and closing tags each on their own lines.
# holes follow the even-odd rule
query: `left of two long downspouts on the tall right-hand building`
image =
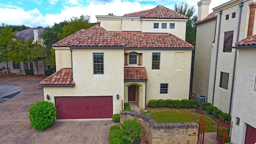
<svg viewBox="0 0 256 144">
<path fill-rule="evenodd" d="M 212 92 L 212 106 L 213 106 L 213 102 L 214 102 L 214 92 L 215 92 L 215 83 L 216 83 L 216 72 L 217 72 L 218 50 L 219 50 L 219 43 L 220 43 L 220 24 L 221 24 L 222 10 L 219 11 L 219 14 L 220 14 L 220 22 L 219 22 L 219 29 L 218 29 L 218 40 L 217 40 L 217 50 L 216 50 L 215 70 L 214 70 L 214 82 L 213 82 L 213 92 Z"/>
</svg>

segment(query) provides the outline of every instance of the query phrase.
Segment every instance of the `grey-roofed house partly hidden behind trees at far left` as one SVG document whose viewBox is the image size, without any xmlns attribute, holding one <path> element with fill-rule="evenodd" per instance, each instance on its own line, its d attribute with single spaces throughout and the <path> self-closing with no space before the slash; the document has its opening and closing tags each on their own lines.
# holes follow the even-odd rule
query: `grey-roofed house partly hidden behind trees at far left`
<svg viewBox="0 0 256 144">
<path fill-rule="evenodd" d="M 28 28 L 26 30 L 19 31 L 15 34 L 15 38 L 19 38 L 22 42 L 26 42 L 28 40 L 33 39 L 33 42 L 38 41 L 39 44 L 43 43 L 42 34 L 44 32 L 44 28 Z M 4 62 L 0 62 L 0 67 L 5 67 L 7 70 L 7 64 Z M 37 74 L 36 66 L 33 62 L 30 63 L 14 63 L 8 62 L 9 72 L 20 74 L 20 66 L 22 70 L 22 74 L 25 74 L 26 69 L 34 70 L 34 74 Z M 44 75 L 44 70 L 51 70 L 49 66 L 46 65 L 44 61 L 38 62 L 38 73 L 40 75 Z"/>
</svg>

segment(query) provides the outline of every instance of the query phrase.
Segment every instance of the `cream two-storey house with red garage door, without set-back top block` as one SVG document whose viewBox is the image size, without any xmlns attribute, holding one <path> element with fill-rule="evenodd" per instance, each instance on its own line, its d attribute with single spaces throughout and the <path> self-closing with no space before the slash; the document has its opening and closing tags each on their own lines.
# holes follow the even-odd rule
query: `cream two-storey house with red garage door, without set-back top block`
<svg viewBox="0 0 256 144">
<path fill-rule="evenodd" d="M 111 118 L 128 101 L 145 109 L 152 99 L 189 98 L 192 44 L 170 33 L 108 31 L 103 23 L 52 44 L 58 71 L 39 86 L 57 119 Z"/>
</svg>

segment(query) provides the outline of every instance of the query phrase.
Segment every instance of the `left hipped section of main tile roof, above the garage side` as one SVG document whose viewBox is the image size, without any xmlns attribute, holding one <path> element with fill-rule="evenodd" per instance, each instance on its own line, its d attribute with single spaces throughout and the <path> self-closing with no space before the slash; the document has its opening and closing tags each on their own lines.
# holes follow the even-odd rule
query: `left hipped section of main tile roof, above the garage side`
<svg viewBox="0 0 256 144">
<path fill-rule="evenodd" d="M 125 46 L 125 44 L 114 38 L 107 30 L 95 25 L 89 29 L 82 29 L 54 44 L 52 47 L 69 46 Z"/>
</svg>

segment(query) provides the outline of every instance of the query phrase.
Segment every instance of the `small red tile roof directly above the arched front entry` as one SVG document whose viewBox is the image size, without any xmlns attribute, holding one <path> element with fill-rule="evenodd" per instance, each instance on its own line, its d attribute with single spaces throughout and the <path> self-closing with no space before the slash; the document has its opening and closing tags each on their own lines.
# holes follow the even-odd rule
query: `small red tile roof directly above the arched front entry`
<svg viewBox="0 0 256 144">
<path fill-rule="evenodd" d="M 146 68 L 125 67 L 124 80 L 148 80 Z"/>
</svg>

